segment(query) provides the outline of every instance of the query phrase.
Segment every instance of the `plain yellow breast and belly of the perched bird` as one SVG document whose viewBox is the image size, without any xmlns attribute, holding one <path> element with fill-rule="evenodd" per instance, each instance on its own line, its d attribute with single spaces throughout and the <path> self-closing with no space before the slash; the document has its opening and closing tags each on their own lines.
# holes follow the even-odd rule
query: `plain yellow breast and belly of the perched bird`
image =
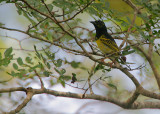
<svg viewBox="0 0 160 114">
<path fill-rule="evenodd" d="M 97 43 L 97 45 L 98 45 L 98 48 L 99 48 L 104 54 L 113 53 L 113 50 L 111 50 L 107 45 L 105 45 L 100 39 L 96 40 L 96 43 Z"/>
</svg>

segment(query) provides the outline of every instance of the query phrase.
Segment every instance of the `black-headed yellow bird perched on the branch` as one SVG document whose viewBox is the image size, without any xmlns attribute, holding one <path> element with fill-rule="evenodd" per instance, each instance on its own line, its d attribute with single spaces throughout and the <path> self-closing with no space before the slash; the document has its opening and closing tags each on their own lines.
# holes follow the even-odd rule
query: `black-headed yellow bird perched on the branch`
<svg viewBox="0 0 160 114">
<path fill-rule="evenodd" d="M 104 54 L 113 54 L 112 56 L 118 57 L 119 48 L 112 36 L 108 34 L 104 22 L 100 20 L 90 22 L 96 29 L 96 43 L 98 45 L 98 48 Z"/>
</svg>

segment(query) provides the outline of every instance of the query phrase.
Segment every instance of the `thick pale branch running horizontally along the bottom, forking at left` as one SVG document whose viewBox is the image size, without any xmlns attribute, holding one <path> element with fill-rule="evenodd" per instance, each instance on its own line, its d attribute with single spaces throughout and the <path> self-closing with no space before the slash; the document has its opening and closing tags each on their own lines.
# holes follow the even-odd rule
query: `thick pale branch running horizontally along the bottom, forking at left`
<svg viewBox="0 0 160 114">
<path fill-rule="evenodd" d="M 107 101 L 113 104 L 116 104 L 122 108 L 125 109 L 142 109 L 142 108 L 160 108 L 160 102 L 136 102 L 135 100 L 138 97 L 138 94 L 135 92 L 131 98 L 127 101 L 120 101 L 119 99 L 113 99 L 111 97 L 104 97 L 96 94 L 77 94 L 77 93 L 71 93 L 71 92 L 60 92 L 55 91 L 51 89 L 32 89 L 29 88 L 23 88 L 23 87 L 17 87 L 17 88 L 9 88 L 9 89 L 0 89 L 0 93 L 3 92 L 15 92 L 15 91 L 24 91 L 27 93 L 27 97 L 24 99 L 24 101 L 16 107 L 16 109 L 11 110 L 10 112 L 4 112 L 4 114 L 12 114 L 12 113 L 18 113 L 21 111 L 22 108 L 24 108 L 27 103 L 32 99 L 32 97 L 36 94 L 50 94 L 57 97 L 71 97 L 71 98 L 77 98 L 77 99 L 94 99 L 99 101 Z M 160 95 L 159 95 L 160 96 Z M 159 98 L 160 99 L 160 98 Z M 129 101 L 129 102 L 128 102 Z M 132 102 L 135 101 L 133 104 Z M 129 105 L 129 106 L 128 106 Z"/>
</svg>

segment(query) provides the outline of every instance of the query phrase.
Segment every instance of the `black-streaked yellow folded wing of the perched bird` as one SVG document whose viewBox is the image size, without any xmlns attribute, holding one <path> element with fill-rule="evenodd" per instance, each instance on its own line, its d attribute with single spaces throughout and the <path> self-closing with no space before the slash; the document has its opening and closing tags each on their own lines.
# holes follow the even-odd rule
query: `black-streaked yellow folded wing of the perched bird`
<svg viewBox="0 0 160 114">
<path fill-rule="evenodd" d="M 111 39 L 106 38 L 104 35 L 100 37 L 100 40 L 113 51 L 119 51 L 118 46 L 114 40 L 112 41 Z"/>
</svg>

